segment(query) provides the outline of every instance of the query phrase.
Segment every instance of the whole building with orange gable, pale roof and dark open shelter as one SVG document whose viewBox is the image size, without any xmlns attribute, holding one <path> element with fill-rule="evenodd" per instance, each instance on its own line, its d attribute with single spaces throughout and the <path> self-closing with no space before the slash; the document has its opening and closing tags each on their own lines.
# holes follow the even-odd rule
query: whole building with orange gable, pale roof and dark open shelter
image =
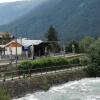
<svg viewBox="0 0 100 100">
<path fill-rule="evenodd" d="M 3 55 L 34 57 L 45 55 L 46 43 L 42 40 L 17 39 L 4 46 Z"/>
</svg>

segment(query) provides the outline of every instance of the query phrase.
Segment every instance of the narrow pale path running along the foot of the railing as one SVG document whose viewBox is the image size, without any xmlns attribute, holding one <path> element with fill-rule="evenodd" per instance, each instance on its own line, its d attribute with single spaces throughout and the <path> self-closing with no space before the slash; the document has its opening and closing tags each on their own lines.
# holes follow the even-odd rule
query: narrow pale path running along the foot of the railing
<svg viewBox="0 0 100 100">
<path fill-rule="evenodd" d="M 67 68 L 67 69 L 63 69 L 63 70 L 56 70 L 56 71 L 49 71 L 49 72 L 43 72 L 43 73 L 36 73 L 36 74 L 32 74 L 31 76 L 40 76 L 45 75 L 45 74 L 55 74 L 55 73 L 64 73 L 64 72 L 71 72 L 71 71 L 76 71 L 76 70 L 82 70 L 84 68 L 86 68 L 87 66 L 79 66 L 79 67 L 73 67 L 73 68 Z M 28 75 L 28 74 L 27 74 Z M 23 76 L 20 76 L 20 78 L 23 78 Z M 13 77 L 13 80 L 17 80 L 19 79 L 19 77 Z M 0 82 L 3 81 L 3 78 L 0 78 Z M 12 81 L 12 78 L 6 78 L 6 81 Z"/>
</svg>

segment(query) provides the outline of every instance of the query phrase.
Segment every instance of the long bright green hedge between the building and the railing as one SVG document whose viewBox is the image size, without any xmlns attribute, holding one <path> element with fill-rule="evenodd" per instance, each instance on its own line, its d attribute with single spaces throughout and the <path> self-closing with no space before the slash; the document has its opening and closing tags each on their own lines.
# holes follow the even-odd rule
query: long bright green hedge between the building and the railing
<svg viewBox="0 0 100 100">
<path fill-rule="evenodd" d="M 76 58 L 64 58 L 64 57 L 44 57 L 35 61 L 25 61 L 18 65 L 18 70 L 28 70 L 28 69 L 36 69 L 36 68 L 44 68 L 52 67 L 53 66 L 60 66 L 60 65 L 72 65 L 72 64 L 80 64 L 79 57 Z M 63 67 L 61 67 L 63 68 Z"/>
</svg>

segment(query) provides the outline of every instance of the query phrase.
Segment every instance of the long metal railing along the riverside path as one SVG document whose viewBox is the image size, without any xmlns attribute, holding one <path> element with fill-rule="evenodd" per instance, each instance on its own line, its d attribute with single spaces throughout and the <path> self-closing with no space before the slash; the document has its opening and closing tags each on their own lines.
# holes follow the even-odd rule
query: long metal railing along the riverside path
<svg viewBox="0 0 100 100">
<path fill-rule="evenodd" d="M 60 65 L 60 66 L 52 66 L 52 67 L 45 67 L 45 68 L 36 68 L 36 69 L 29 69 L 29 70 L 16 70 L 11 72 L 3 72 L 0 73 L 0 81 L 11 81 L 14 79 L 21 79 L 26 77 L 32 77 L 36 75 L 47 74 L 50 72 L 56 73 L 60 71 L 73 71 L 86 68 L 86 66 L 80 65 Z"/>
</svg>

